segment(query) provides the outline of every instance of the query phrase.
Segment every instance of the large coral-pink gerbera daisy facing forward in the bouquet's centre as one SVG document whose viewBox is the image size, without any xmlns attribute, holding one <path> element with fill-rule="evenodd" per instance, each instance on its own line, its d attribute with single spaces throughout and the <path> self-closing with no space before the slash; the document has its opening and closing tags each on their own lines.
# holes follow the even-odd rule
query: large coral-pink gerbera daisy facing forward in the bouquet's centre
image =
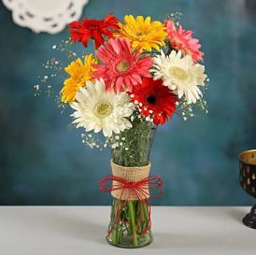
<svg viewBox="0 0 256 255">
<path fill-rule="evenodd" d="M 133 52 L 126 38 L 109 39 L 96 51 L 96 55 L 103 64 L 94 65 L 96 71 L 92 76 L 104 78 L 107 90 L 131 91 L 133 85 L 141 83 L 142 77 L 151 77 L 149 67 L 152 60 Z"/>
</svg>

